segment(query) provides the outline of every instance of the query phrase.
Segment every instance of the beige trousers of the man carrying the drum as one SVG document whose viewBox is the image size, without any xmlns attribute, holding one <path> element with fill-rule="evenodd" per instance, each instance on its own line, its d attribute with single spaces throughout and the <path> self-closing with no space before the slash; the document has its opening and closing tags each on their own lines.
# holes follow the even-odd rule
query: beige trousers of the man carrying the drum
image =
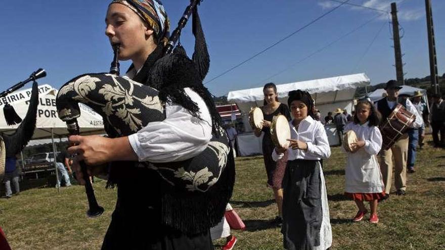
<svg viewBox="0 0 445 250">
<path fill-rule="evenodd" d="M 394 185 L 395 188 L 407 189 L 407 158 L 408 134 L 404 134 L 388 150 L 380 152 L 380 171 L 382 172 L 385 193 L 389 194 L 392 180 L 392 156 L 394 156 Z"/>
</svg>

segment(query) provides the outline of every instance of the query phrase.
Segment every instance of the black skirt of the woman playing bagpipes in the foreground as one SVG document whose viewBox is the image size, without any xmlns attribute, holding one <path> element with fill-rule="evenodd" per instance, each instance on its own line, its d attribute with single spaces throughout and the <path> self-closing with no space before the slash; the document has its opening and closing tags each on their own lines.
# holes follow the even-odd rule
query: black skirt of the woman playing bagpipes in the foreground
<svg viewBox="0 0 445 250">
<path fill-rule="evenodd" d="M 120 183 L 116 208 L 102 244 L 102 250 L 213 250 L 210 229 L 186 234 L 161 221 L 158 192 L 146 181 Z"/>
</svg>

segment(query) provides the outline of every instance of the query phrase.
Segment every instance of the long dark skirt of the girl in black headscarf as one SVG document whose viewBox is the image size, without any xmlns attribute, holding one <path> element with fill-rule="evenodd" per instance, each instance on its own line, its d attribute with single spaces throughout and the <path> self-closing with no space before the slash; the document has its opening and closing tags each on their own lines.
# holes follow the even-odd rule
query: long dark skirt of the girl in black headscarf
<svg viewBox="0 0 445 250">
<path fill-rule="evenodd" d="M 323 220 L 320 168 L 316 160 L 288 161 L 283 178 L 283 233 L 288 250 L 320 245 Z"/>
</svg>

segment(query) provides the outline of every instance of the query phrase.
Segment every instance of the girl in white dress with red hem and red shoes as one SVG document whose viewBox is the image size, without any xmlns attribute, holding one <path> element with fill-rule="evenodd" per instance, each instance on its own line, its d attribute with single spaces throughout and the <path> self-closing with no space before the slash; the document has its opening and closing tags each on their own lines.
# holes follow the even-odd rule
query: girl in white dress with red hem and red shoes
<svg viewBox="0 0 445 250">
<path fill-rule="evenodd" d="M 345 131 L 357 134 L 357 141 L 350 143 L 352 152 L 347 152 L 345 195 L 352 198 L 359 212 L 352 219 L 361 221 L 368 210 L 364 201 L 369 202 L 371 216 L 369 222 L 378 223 L 377 204 L 385 195 L 382 174 L 376 155 L 382 147 L 382 135 L 377 127 L 381 115 L 367 99 L 358 102 L 353 122 L 345 126 Z"/>
</svg>

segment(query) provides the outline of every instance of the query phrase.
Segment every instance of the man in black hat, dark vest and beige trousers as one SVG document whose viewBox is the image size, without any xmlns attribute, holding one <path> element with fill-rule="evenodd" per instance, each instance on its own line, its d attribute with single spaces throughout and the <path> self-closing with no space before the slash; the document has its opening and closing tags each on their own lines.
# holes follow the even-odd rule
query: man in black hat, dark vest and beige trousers
<svg viewBox="0 0 445 250">
<path fill-rule="evenodd" d="M 385 90 L 387 96 L 376 102 L 377 110 L 382 114 L 382 121 L 386 121 L 388 116 L 397 106 L 402 104 L 409 112 L 416 116 L 415 121 L 411 124 L 413 128 L 419 128 L 422 125 L 422 117 L 418 114 L 416 107 L 409 99 L 399 100 L 398 95 L 400 87 L 395 80 L 386 83 Z M 382 131 L 382 134 L 384 131 Z M 396 195 L 405 195 L 407 189 L 407 157 L 408 157 L 408 134 L 400 136 L 400 138 L 387 150 L 382 148 L 380 151 L 380 169 L 385 184 L 385 198 L 389 197 L 391 189 L 392 175 L 392 156 L 395 160 L 395 188 Z"/>
</svg>

